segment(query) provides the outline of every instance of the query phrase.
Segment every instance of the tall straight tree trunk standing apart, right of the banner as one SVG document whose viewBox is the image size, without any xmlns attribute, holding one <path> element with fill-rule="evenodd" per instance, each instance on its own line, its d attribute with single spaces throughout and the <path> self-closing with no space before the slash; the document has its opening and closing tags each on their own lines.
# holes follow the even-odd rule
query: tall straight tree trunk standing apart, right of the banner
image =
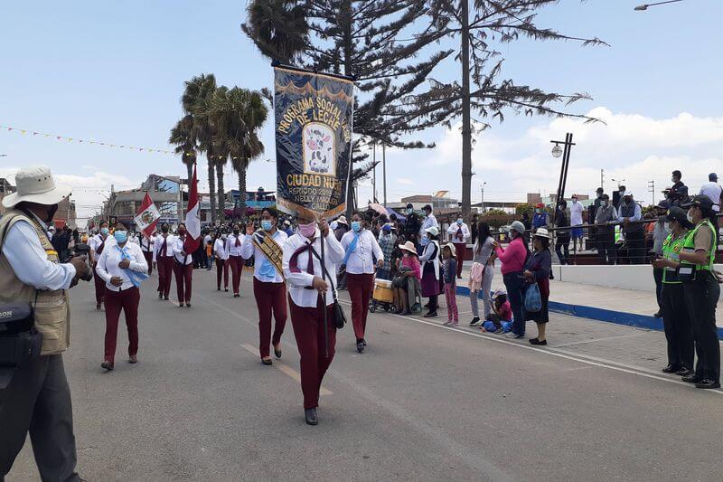
<svg viewBox="0 0 723 482">
<path fill-rule="evenodd" d="M 472 209 L 472 125 L 469 96 L 469 0 L 461 0 L 462 16 L 462 215 Z"/>
</svg>

